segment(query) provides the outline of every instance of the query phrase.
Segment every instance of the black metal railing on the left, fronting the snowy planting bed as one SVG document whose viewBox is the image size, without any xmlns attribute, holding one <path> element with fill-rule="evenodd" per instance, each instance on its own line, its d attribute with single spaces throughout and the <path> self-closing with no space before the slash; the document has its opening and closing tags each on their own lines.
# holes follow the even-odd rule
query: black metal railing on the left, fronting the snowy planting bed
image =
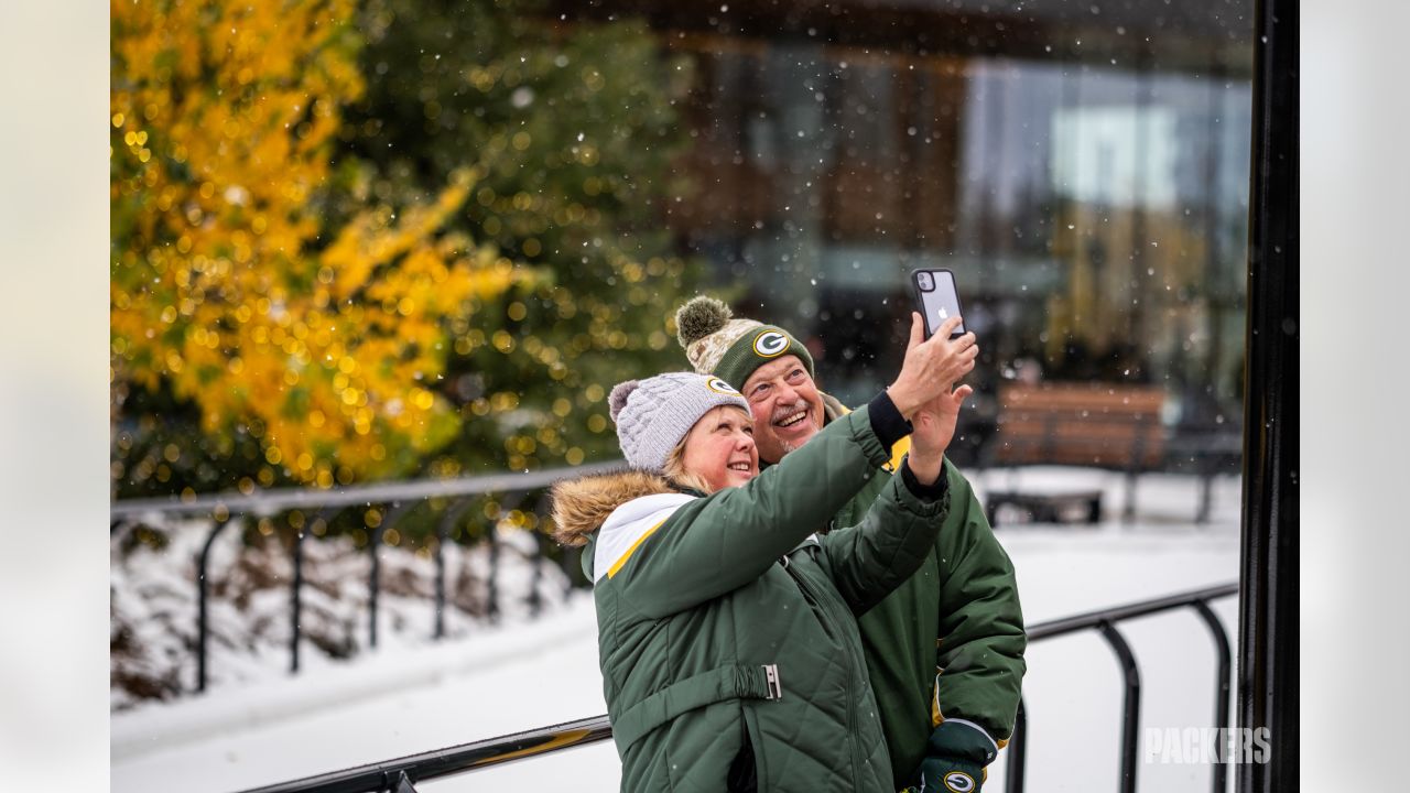
<svg viewBox="0 0 1410 793">
<path fill-rule="evenodd" d="M 402 518 L 412 512 L 416 507 L 427 504 L 431 500 L 447 500 L 448 507 L 444 508 L 440 521 L 436 522 L 436 543 L 434 543 L 434 560 L 436 560 L 436 629 L 433 638 L 443 638 L 446 634 L 444 611 L 446 611 L 446 557 L 444 547 L 450 538 L 451 529 L 457 522 L 464 518 L 467 508 L 471 507 L 472 500 L 481 495 L 502 494 L 503 504 L 502 512 L 515 509 L 522 500 L 533 491 L 544 490 L 553 483 L 568 478 L 580 477 L 595 473 L 605 473 L 618 470 L 623 466 L 620 461 L 598 463 L 592 466 L 577 466 L 571 468 L 551 468 L 544 471 L 522 473 L 522 474 L 494 474 L 482 477 L 461 477 L 448 480 L 427 480 L 427 481 L 412 481 L 412 483 L 395 483 L 395 484 L 378 484 L 378 485 L 362 485 L 362 487 L 348 487 L 348 488 L 334 488 L 334 490 L 309 490 L 309 488 L 285 488 L 285 490 L 268 490 L 252 494 L 216 494 L 199 498 L 188 500 L 172 500 L 172 498 L 144 498 L 120 501 L 113 504 L 110 511 L 110 539 L 116 542 L 120 539 L 121 532 L 127 526 L 138 525 L 144 521 L 152 519 L 154 516 L 209 516 L 213 522 L 210 532 L 206 535 L 204 543 L 202 543 L 200 555 L 196 559 L 196 690 L 204 691 L 207 682 L 207 643 L 209 643 L 209 622 L 207 622 L 207 601 L 210 598 L 209 586 L 209 564 L 210 564 L 210 550 L 216 543 L 216 539 L 230 523 L 238 521 L 244 516 L 252 518 L 268 518 L 271 515 L 286 515 L 295 509 L 312 511 L 314 519 L 307 523 L 300 521 L 300 525 L 290 526 L 293 533 L 293 543 L 290 549 L 293 562 L 293 576 L 290 576 L 289 586 L 289 625 L 290 625 L 290 639 L 289 639 L 289 672 L 299 672 L 299 639 L 300 639 L 300 622 L 302 622 L 302 588 L 303 588 L 303 556 L 305 547 L 303 540 L 307 533 L 306 528 L 317 525 L 331 525 L 333 519 L 343 509 L 350 509 L 354 507 L 372 507 L 382 505 L 386 508 L 385 515 L 379 523 L 368 532 L 368 546 L 367 552 L 371 559 L 371 571 L 368 573 L 368 643 L 376 646 L 376 610 L 378 610 L 378 595 L 379 595 L 379 579 L 381 579 L 381 564 L 378 560 L 378 549 L 382 545 L 382 536 L 393 529 Z M 495 521 L 488 522 L 489 533 L 489 549 L 491 549 L 491 574 L 489 574 L 489 593 L 486 597 L 486 608 L 491 617 L 498 611 L 498 593 L 496 593 L 496 564 L 495 553 L 498 545 L 495 543 Z M 536 556 L 536 563 L 541 563 L 541 557 Z M 536 569 L 536 577 L 541 574 L 541 570 Z"/>
</svg>

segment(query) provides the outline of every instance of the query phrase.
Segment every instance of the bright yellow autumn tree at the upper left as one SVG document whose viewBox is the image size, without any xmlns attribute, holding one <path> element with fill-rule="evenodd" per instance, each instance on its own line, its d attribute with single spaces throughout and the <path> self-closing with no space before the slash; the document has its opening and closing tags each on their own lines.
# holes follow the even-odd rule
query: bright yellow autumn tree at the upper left
<svg viewBox="0 0 1410 793">
<path fill-rule="evenodd" d="M 447 327 L 537 281 L 446 231 L 474 171 L 424 205 L 330 227 L 333 143 L 364 90 L 354 6 L 111 3 L 118 490 L 149 491 L 192 454 L 127 453 L 124 405 L 142 394 L 195 412 L 197 457 L 228 459 L 172 484 L 330 487 L 409 470 L 458 426 L 434 388 Z M 161 423 L 154 413 L 142 420 Z"/>
</svg>

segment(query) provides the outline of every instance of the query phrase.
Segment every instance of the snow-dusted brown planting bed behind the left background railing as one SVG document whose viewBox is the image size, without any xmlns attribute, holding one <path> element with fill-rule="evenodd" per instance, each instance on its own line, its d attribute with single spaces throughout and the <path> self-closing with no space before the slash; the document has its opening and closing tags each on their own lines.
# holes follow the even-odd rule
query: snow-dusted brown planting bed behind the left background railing
<svg viewBox="0 0 1410 793">
<path fill-rule="evenodd" d="M 154 516 L 137 531 L 151 531 L 162 542 L 131 543 L 130 536 L 120 533 L 111 543 L 114 711 L 149 708 L 196 690 L 192 648 L 196 646 L 197 556 L 212 528 L 209 519 Z M 241 529 L 217 535 L 207 566 L 207 690 L 212 691 L 279 680 L 289 669 L 290 553 L 278 538 Z M 532 611 L 530 600 L 540 610 L 553 610 L 570 591 L 567 576 L 557 564 L 541 560 L 539 542 L 530 532 L 501 525 L 494 545 L 494 550 L 486 542 L 471 546 L 453 542 L 444 547 L 446 636 L 471 636 L 501 619 L 523 621 Z M 303 549 L 299 663 L 307 677 L 314 677 L 317 670 L 343 666 L 371 646 L 371 557 L 347 536 L 307 540 Z M 433 645 L 433 557 L 384 545 L 378 560 L 378 643 L 384 649 Z M 494 615 L 491 588 L 496 593 Z"/>
</svg>

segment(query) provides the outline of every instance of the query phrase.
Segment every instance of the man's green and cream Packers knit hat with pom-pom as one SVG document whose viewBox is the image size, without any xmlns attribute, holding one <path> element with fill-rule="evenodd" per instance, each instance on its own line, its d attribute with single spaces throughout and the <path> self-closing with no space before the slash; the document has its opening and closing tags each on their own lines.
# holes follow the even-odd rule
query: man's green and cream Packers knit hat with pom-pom
<svg viewBox="0 0 1410 793">
<path fill-rule="evenodd" d="M 713 374 L 743 388 L 754 370 L 780 356 L 798 356 L 812 375 L 812 356 L 791 333 L 777 325 L 735 319 L 723 302 L 698 296 L 675 312 L 677 339 L 685 357 L 701 374 Z"/>
</svg>

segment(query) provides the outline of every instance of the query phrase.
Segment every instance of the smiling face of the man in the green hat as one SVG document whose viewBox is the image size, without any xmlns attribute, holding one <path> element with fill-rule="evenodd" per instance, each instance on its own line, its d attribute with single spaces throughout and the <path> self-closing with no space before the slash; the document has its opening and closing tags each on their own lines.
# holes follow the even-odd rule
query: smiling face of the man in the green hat
<svg viewBox="0 0 1410 793">
<path fill-rule="evenodd" d="M 760 460 L 777 463 L 822 429 L 822 395 L 798 356 L 759 367 L 740 391 L 754 412 Z"/>
</svg>

